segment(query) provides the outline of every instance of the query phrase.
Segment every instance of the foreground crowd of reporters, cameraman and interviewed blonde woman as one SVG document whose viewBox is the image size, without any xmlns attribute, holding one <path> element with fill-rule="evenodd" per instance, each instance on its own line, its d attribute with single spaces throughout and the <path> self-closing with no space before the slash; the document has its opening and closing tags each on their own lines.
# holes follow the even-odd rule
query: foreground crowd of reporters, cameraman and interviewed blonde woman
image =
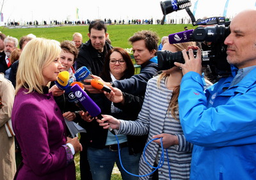
<svg viewBox="0 0 256 180">
<path fill-rule="evenodd" d="M 255 179 L 254 18 L 256 10 L 245 10 L 230 22 L 223 43 L 231 73 L 214 84 L 202 75 L 198 42 L 170 44 L 164 36 L 159 46 L 154 31 L 129 38 L 138 74 L 131 56 L 112 47 L 106 20 L 90 22 L 88 41 L 81 33 L 62 42 L 0 33 L 0 177 L 76 179 L 80 153 L 81 179 L 109 180 L 115 163 L 122 179 Z M 182 51 L 184 63 L 159 69 L 159 49 Z M 111 89 L 82 80 L 101 116 L 58 85 L 60 72 L 70 85 L 83 66 Z M 70 135 L 67 121 L 86 133 Z"/>
</svg>

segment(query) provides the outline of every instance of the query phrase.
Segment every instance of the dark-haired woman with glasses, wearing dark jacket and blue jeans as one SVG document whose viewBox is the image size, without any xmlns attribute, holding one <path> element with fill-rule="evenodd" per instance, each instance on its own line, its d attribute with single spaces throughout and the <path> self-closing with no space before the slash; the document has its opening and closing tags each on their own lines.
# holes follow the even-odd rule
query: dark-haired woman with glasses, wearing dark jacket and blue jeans
<svg viewBox="0 0 256 180">
<path fill-rule="evenodd" d="M 134 75 L 134 65 L 129 54 L 122 48 L 115 47 L 109 51 L 104 63 L 104 69 L 100 77 L 106 82 L 115 80 L 128 79 Z M 131 112 L 130 109 L 118 109 L 106 96 L 102 93 L 101 107 L 104 107 L 102 114 L 109 114 L 116 118 L 136 119 L 138 112 Z M 115 135 L 110 131 L 104 130 L 99 126 L 95 119 L 90 119 L 90 115 L 84 113 L 83 119 L 88 122 L 86 131 L 88 140 L 97 144 L 97 147 L 88 147 L 88 161 L 93 179 L 111 179 L 111 172 L 116 163 L 122 174 L 122 179 L 138 179 L 125 172 L 118 158 L 118 147 Z M 146 137 L 132 137 L 127 135 L 118 135 L 119 144 L 121 147 L 120 153 L 122 163 L 125 169 L 134 174 L 138 174 L 138 165 L 142 149 L 145 144 Z M 142 146 L 140 146 L 142 144 Z M 102 168 L 103 167 L 103 168 Z"/>
</svg>

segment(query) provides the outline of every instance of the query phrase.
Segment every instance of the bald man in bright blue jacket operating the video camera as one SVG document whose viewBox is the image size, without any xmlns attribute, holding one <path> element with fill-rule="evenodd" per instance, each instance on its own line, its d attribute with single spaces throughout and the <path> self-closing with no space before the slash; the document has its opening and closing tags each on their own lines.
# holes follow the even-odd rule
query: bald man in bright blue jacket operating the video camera
<svg viewBox="0 0 256 180">
<path fill-rule="evenodd" d="M 201 51 L 182 51 L 180 123 L 195 144 L 191 179 L 256 177 L 256 10 L 237 14 L 225 39 L 232 74 L 204 93 Z"/>
</svg>

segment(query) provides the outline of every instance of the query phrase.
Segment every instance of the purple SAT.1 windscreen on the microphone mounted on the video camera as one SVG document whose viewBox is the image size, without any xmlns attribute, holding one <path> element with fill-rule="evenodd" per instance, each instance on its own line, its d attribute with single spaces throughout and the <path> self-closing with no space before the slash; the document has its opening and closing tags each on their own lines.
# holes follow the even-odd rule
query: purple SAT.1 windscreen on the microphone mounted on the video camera
<svg viewBox="0 0 256 180">
<path fill-rule="evenodd" d="M 189 29 L 187 31 L 182 31 L 179 33 L 169 34 L 169 43 L 175 44 L 175 43 L 186 43 L 190 41 L 190 36 L 193 34 L 194 29 Z"/>
</svg>

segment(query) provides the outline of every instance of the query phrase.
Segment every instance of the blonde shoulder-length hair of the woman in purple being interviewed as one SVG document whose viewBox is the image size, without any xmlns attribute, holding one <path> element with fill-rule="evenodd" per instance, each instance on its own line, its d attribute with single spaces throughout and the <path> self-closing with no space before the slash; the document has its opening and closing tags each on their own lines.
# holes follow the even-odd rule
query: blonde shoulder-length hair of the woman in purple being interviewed
<svg viewBox="0 0 256 180">
<path fill-rule="evenodd" d="M 60 56 L 60 52 L 58 41 L 44 38 L 29 41 L 20 54 L 15 93 L 17 94 L 21 87 L 25 87 L 28 89 L 27 93 L 37 91 L 43 94 L 42 70 Z"/>
</svg>

